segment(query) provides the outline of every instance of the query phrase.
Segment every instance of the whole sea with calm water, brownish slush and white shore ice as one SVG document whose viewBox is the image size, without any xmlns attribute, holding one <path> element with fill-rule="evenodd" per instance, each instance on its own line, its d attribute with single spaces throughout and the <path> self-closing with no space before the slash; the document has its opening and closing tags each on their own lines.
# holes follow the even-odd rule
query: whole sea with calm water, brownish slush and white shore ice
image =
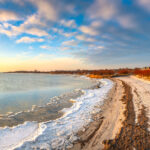
<svg viewBox="0 0 150 150">
<path fill-rule="evenodd" d="M 0 150 L 71 148 L 112 87 L 78 75 L 0 73 Z"/>
</svg>

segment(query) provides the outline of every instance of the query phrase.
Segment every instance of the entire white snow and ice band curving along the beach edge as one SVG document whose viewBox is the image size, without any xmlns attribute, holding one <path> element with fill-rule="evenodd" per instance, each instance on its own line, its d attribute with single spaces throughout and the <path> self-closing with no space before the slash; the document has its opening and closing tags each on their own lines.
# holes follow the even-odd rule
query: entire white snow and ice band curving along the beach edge
<svg viewBox="0 0 150 150">
<path fill-rule="evenodd" d="M 76 133 L 92 121 L 98 112 L 95 106 L 102 105 L 113 82 L 101 79 L 101 88 L 83 90 L 70 108 L 63 109 L 64 116 L 45 123 L 26 122 L 13 128 L 0 128 L 0 149 L 63 149 L 72 147 Z M 25 142 L 26 141 L 26 142 Z M 21 146 L 22 145 L 22 146 Z M 19 147 L 20 146 L 20 147 Z"/>
</svg>

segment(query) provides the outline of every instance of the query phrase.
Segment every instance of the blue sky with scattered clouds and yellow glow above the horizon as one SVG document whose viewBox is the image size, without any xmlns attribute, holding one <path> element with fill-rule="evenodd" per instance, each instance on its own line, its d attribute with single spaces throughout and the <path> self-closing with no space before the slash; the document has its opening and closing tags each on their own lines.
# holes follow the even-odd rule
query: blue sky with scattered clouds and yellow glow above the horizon
<svg viewBox="0 0 150 150">
<path fill-rule="evenodd" d="M 0 72 L 150 66 L 150 0 L 0 0 Z"/>
</svg>

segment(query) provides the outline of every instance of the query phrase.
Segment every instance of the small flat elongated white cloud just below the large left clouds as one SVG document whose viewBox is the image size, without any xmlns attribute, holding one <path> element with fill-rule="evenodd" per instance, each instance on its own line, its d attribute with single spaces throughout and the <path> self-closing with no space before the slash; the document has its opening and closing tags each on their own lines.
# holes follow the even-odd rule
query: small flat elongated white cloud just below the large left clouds
<svg viewBox="0 0 150 150">
<path fill-rule="evenodd" d="M 33 42 L 43 42 L 42 38 L 31 38 L 31 37 L 22 37 L 16 41 L 16 43 L 33 43 Z"/>
</svg>

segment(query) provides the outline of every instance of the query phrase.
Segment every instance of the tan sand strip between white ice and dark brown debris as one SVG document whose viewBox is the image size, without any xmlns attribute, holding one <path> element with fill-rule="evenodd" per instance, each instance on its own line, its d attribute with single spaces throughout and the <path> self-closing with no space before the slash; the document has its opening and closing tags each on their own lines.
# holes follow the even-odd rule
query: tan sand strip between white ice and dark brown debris
<svg viewBox="0 0 150 150">
<path fill-rule="evenodd" d="M 79 140 L 70 150 L 98 150 L 103 149 L 105 139 L 114 138 L 125 119 L 123 112 L 125 105 L 121 103 L 124 92 L 121 81 L 113 80 L 114 86 L 109 91 L 100 112 L 93 115 L 93 122 L 78 132 Z M 116 91 L 118 93 L 116 93 Z M 119 96 L 120 95 L 120 96 Z M 118 100 L 118 97 L 119 99 Z"/>
</svg>

